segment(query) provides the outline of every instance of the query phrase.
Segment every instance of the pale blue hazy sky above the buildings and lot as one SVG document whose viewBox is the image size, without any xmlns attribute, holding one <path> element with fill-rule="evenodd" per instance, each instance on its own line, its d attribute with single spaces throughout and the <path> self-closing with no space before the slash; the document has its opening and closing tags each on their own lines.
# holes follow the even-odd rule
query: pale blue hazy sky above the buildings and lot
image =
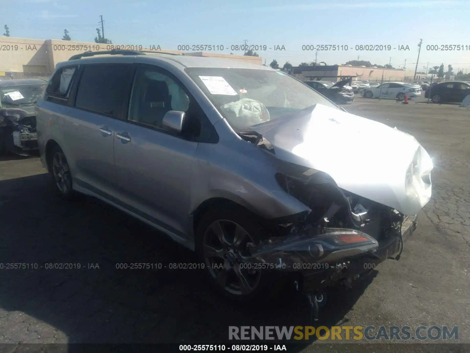
<svg viewBox="0 0 470 353">
<path fill-rule="evenodd" d="M 348 45 L 348 51 L 319 51 L 317 61 L 343 64 L 368 60 L 372 64 L 414 67 L 417 43 L 423 39 L 418 71 L 440 63 L 454 71 L 470 72 L 470 50 L 429 51 L 427 45 L 460 44 L 470 49 L 469 1 L 427 0 L 0 0 L 0 24 L 8 24 L 12 37 L 93 41 L 99 15 L 106 38 L 113 44 L 160 45 L 177 49 L 182 44 L 284 46 L 285 51 L 258 51 L 266 63 L 276 59 L 297 65 L 313 61 L 304 44 Z M 2 32 L 3 33 L 3 32 Z M 408 45 L 409 51 L 356 51 L 360 44 Z M 352 47 L 352 48 L 351 48 Z M 234 54 L 243 54 L 235 52 Z"/>
</svg>

